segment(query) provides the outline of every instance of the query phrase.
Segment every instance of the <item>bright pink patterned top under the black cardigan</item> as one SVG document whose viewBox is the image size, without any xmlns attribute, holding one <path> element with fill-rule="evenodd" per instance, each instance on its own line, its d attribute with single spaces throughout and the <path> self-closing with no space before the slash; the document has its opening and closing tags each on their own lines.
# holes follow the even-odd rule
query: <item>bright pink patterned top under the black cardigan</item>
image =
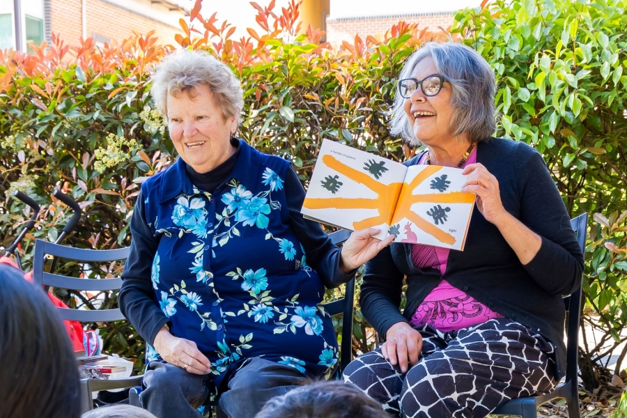
<svg viewBox="0 0 627 418">
<path fill-rule="evenodd" d="M 426 154 L 425 154 L 426 155 Z M 425 164 L 424 156 L 418 164 Z M 461 167 L 477 162 L 477 147 Z M 447 270 L 449 249 L 431 245 L 412 245 L 412 261 L 417 268 L 438 268 L 444 277 Z M 410 322 L 412 325 L 431 325 L 442 332 L 457 331 L 465 327 L 485 323 L 493 318 L 502 318 L 492 309 L 451 286 L 442 279 L 418 306 Z"/>
</svg>

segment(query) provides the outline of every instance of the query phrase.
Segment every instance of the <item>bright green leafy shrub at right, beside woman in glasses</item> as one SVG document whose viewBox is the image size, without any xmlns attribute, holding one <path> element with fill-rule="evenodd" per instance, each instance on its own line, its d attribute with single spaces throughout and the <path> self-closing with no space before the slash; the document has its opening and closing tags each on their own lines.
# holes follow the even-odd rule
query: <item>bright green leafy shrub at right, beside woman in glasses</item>
<svg viewBox="0 0 627 418">
<path fill-rule="evenodd" d="M 506 136 L 544 155 L 572 216 L 591 215 L 583 290 L 586 313 L 598 316 L 583 320 L 610 349 L 627 339 L 626 10 L 619 0 L 495 1 L 458 13 L 452 30 L 495 68 Z M 587 389 L 607 353 L 585 340 Z"/>
</svg>

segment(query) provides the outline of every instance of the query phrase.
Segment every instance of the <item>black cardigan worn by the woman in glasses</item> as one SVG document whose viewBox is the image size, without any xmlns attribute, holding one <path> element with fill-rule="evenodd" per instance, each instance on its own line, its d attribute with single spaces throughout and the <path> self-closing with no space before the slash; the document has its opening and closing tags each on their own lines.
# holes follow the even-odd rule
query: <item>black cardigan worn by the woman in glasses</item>
<svg viewBox="0 0 627 418">
<path fill-rule="evenodd" d="M 417 164 L 418 156 L 405 165 Z M 499 182 L 505 210 L 542 238 L 533 260 L 522 265 L 496 226 L 477 208 L 463 251 L 452 250 L 444 277 L 449 284 L 493 311 L 536 330 L 557 348 L 557 376 L 566 370 L 562 295 L 581 284 L 583 255 L 566 207 L 541 155 L 522 142 L 492 138 L 479 142 L 477 162 Z M 389 327 L 409 323 L 419 304 L 444 277 L 418 269 L 410 244 L 392 244 L 369 263 L 359 303 L 366 320 L 385 338 Z M 406 277 L 407 303 L 401 315 Z"/>
</svg>

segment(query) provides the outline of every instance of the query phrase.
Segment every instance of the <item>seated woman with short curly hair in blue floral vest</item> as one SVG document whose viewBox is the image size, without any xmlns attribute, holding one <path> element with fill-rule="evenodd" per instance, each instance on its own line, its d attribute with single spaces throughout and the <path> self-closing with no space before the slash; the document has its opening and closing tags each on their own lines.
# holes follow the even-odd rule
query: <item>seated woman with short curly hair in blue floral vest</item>
<svg viewBox="0 0 627 418">
<path fill-rule="evenodd" d="M 325 286 L 349 281 L 391 239 L 357 231 L 339 249 L 303 219 L 291 163 L 236 139 L 242 88 L 224 63 L 174 52 L 151 94 L 179 157 L 141 185 L 118 297 L 148 343 L 141 403 L 192 418 L 220 394 L 229 417 L 251 418 L 304 379 L 333 375 Z"/>
</svg>

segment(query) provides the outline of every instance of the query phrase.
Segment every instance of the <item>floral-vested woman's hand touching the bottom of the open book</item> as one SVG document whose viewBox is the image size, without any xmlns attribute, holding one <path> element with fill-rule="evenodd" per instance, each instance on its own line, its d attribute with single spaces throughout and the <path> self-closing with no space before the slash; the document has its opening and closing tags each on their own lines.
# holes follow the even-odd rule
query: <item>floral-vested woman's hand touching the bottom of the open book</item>
<svg viewBox="0 0 627 418">
<path fill-rule="evenodd" d="M 389 235 L 384 240 L 373 238 L 380 232 L 376 228 L 362 229 L 350 234 L 340 252 L 340 269 L 351 272 L 376 256 L 379 251 L 392 243 L 396 235 Z"/>
</svg>

